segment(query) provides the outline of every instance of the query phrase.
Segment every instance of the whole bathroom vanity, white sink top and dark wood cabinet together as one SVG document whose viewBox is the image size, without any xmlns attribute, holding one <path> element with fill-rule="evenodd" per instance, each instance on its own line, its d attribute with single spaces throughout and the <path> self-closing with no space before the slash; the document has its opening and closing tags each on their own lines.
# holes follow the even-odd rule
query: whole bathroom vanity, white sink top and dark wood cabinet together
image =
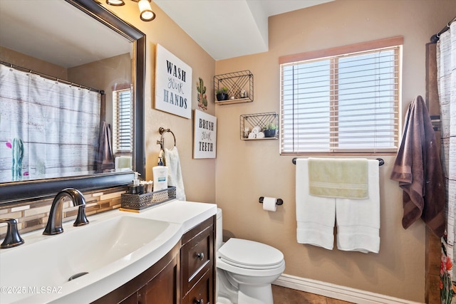
<svg viewBox="0 0 456 304">
<path fill-rule="evenodd" d="M 174 200 L 23 234 L 0 250 L 1 285 L 11 286 L 0 303 L 215 303 L 215 214 L 215 204 Z"/>
</svg>

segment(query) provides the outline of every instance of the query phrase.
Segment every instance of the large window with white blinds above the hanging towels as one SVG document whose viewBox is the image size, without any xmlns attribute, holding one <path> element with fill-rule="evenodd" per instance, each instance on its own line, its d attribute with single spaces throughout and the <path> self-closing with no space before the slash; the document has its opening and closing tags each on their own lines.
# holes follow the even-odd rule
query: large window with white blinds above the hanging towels
<svg viewBox="0 0 456 304">
<path fill-rule="evenodd" d="M 395 152 L 402 43 L 281 57 L 281 154 Z"/>
</svg>

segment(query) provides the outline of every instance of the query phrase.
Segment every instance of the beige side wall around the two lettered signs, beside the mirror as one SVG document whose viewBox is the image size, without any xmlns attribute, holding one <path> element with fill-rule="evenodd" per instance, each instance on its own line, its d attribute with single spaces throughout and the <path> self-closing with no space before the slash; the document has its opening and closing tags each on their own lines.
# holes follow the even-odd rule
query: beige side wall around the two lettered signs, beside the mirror
<svg viewBox="0 0 456 304">
<path fill-rule="evenodd" d="M 104 1 L 103 5 L 106 7 Z M 192 158 L 193 120 L 155 110 L 154 106 L 155 50 L 157 43 L 160 43 L 168 51 L 192 67 L 192 109 L 198 108 L 196 83 L 199 77 L 204 80 L 207 96 L 213 95 L 214 59 L 153 2 L 152 10 L 156 12 L 157 18 L 151 22 L 144 22 L 139 19 L 138 4 L 133 1 L 125 1 L 125 6 L 121 7 L 108 6 L 108 9 L 146 34 L 145 178 L 152 179 L 152 167 L 157 165 L 157 157 L 160 152 L 160 146 L 157 145 L 157 140 L 160 140 L 158 128 L 170 128 L 176 136 L 187 200 L 214 203 L 216 159 Z M 214 103 L 209 102 L 208 109 L 205 112 L 214 115 Z M 165 146 L 172 147 L 172 141 L 172 135 L 165 134 Z"/>
</svg>

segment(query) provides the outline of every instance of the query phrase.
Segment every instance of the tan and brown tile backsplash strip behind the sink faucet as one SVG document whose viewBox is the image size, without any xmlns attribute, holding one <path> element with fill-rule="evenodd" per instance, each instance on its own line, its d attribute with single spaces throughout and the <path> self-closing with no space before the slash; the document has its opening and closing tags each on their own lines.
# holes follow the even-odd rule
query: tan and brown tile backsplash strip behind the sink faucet
<svg viewBox="0 0 456 304">
<path fill-rule="evenodd" d="M 125 193 L 126 187 L 114 187 L 96 191 L 83 192 L 86 199 L 86 215 L 120 208 L 120 194 Z M 38 201 L 23 202 L 14 206 L 0 205 L 0 219 L 16 219 L 20 234 L 44 229 L 48 222 L 49 211 L 53 197 Z M 63 222 L 74 221 L 78 207 L 74 207 L 69 198 L 63 202 Z M 6 234 L 6 224 L 0 224 L 0 242 Z"/>
</svg>

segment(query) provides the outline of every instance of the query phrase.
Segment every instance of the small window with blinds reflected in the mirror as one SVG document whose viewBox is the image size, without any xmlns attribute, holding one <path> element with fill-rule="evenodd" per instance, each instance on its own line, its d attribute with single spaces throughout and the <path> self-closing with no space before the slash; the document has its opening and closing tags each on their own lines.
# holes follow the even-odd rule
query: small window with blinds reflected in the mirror
<svg viewBox="0 0 456 304">
<path fill-rule="evenodd" d="M 113 152 L 133 152 L 133 101 L 130 88 L 113 90 Z"/>
</svg>

